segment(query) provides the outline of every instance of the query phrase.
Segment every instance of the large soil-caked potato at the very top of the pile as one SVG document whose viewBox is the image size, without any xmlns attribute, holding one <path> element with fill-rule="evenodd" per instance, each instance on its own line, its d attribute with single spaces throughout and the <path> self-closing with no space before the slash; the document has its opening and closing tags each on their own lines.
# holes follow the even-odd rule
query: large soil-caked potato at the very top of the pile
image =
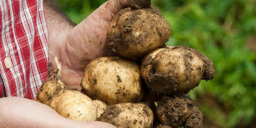
<svg viewBox="0 0 256 128">
<path fill-rule="evenodd" d="M 108 28 L 110 48 L 123 57 L 138 60 L 164 45 L 170 36 L 170 25 L 154 6 L 124 8 L 114 16 Z"/>
</svg>

